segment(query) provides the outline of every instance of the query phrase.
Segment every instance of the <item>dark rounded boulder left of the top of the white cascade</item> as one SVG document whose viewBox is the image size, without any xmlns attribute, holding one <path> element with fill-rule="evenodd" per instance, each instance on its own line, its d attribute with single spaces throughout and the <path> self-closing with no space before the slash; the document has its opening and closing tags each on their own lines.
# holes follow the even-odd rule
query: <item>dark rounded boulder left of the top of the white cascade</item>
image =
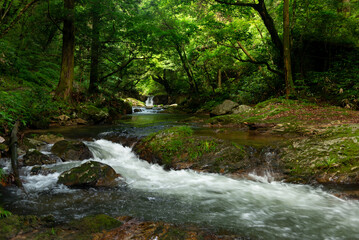
<svg viewBox="0 0 359 240">
<path fill-rule="evenodd" d="M 62 161 L 93 158 L 90 149 L 81 141 L 59 141 L 52 146 L 51 152 L 59 156 Z"/>
</svg>

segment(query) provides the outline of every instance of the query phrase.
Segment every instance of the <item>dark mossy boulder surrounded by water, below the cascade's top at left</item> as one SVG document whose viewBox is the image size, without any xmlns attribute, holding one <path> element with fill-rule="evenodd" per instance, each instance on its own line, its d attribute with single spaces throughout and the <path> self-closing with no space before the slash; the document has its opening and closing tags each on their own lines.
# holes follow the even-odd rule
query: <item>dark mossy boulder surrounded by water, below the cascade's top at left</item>
<svg viewBox="0 0 359 240">
<path fill-rule="evenodd" d="M 68 187 L 114 187 L 116 178 L 120 177 L 115 170 L 103 163 L 89 161 L 78 167 L 63 172 L 58 183 Z"/>
</svg>

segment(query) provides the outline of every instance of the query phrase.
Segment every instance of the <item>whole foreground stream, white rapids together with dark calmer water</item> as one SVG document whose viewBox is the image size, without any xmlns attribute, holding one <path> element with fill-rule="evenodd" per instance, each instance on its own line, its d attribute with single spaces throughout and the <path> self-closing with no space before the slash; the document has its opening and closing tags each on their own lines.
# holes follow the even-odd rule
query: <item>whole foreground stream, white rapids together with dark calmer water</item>
<svg viewBox="0 0 359 240">
<path fill-rule="evenodd" d="M 59 221 L 97 213 L 131 215 L 255 239 L 359 239 L 359 202 L 339 199 L 321 188 L 268 182 L 255 175 L 256 181 L 250 181 L 166 171 L 121 144 L 104 139 L 86 144 L 94 160 L 123 176 L 117 188 L 74 190 L 56 183 L 61 172 L 81 162 L 51 165 L 57 172 L 47 176 L 30 176 L 30 168 L 23 168 L 28 194 L 4 192 L 4 207 L 19 214 L 52 214 Z"/>
</svg>

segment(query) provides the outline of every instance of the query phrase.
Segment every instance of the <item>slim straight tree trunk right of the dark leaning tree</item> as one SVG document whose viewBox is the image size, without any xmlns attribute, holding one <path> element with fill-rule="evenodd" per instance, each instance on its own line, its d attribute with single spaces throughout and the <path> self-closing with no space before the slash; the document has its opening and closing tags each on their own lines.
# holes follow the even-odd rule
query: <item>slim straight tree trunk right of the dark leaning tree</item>
<svg viewBox="0 0 359 240">
<path fill-rule="evenodd" d="M 290 24 L 289 24 L 289 0 L 284 0 L 283 6 L 283 59 L 286 98 L 294 89 L 292 67 L 290 58 Z"/>
</svg>

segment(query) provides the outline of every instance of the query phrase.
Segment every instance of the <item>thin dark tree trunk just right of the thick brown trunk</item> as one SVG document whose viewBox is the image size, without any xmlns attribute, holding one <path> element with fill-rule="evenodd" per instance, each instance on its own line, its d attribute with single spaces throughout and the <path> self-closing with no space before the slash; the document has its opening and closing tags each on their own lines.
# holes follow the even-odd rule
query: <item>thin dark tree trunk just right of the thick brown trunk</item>
<svg viewBox="0 0 359 240">
<path fill-rule="evenodd" d="M 90 69 L 90 86 L 89 92 L 98 91 L 99 80 L 99 58 L 100 58 L 100 15 L 98 12 L 99 1 L 92 5 L 92 42 L 91 42 L 91 69 Z"/>
</svg>

